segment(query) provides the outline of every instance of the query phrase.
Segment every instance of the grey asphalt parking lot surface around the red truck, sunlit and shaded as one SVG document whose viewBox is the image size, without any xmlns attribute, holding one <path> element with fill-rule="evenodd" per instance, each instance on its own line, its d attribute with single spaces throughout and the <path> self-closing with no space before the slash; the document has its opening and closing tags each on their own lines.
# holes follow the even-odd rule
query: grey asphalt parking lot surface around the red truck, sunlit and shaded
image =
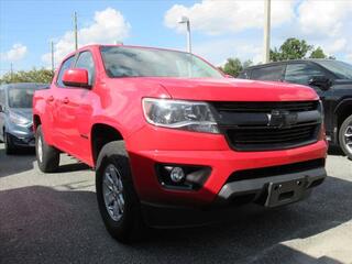
<svg viewBox="0 0 352 264">
<path fill-rule="evenodd" d="M 305 201 L 240 208 L 209 227 L 155 230 L 117 243 L 98 213 L 94 172 L 62 155 L 45 175 L 33 153 L 0 144 L 0 263 L 352 263 L 352 162 L 328 157 L 328 179 Z"/>
</svg>

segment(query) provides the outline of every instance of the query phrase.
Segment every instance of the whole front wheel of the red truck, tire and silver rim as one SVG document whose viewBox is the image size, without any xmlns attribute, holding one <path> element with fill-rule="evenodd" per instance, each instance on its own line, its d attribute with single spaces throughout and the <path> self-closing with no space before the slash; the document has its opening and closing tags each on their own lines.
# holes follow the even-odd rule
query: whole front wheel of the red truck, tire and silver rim
<svg viewBox="0 0 352 264">
<path fill-rule="evenodd" d="M 123 142 L 110 142 L 100 151 L 96 189 L 99 211 L 111 237 L 123 243 L 140 239 L 144 223 Z"/>
</svg>

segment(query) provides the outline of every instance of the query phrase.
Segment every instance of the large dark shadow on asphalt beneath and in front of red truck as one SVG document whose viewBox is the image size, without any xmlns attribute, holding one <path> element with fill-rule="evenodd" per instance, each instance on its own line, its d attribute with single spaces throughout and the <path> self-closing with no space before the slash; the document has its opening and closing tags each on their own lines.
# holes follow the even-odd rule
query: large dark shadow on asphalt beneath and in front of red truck
<svg viewBox="0 0 352 264">
<path fill-rule="evenodd" d="M 312 196 L 285 208 L 239 208 L 221 223 L 152 230 L 133 245 L 105 230 L 92 191 L 33 186 L 0 191 L 3 263 L 339 263 L 283 241 L 304 239 L 352 218 L 352 183 L 328 177 Z"/>
</svg>

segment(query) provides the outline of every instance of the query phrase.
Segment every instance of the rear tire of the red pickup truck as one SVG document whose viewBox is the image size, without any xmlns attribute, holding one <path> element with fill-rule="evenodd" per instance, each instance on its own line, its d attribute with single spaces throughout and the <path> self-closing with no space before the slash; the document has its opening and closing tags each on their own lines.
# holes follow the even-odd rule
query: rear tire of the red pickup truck
<svg viewBox="0 0 352 264">
<path fill-rule="evenodd" d="M 42 150 L 40 150 L 40 144 Z M 42 157 L 40 152 L 42 151 Z M 54 146 L 46 144 L 42 131 L 42 125 L 36 128 L 35 132 L 35 154 L 37 166 L 43 173 L 55 173 L 59 164 L 59 151 Z"/>
</svg>

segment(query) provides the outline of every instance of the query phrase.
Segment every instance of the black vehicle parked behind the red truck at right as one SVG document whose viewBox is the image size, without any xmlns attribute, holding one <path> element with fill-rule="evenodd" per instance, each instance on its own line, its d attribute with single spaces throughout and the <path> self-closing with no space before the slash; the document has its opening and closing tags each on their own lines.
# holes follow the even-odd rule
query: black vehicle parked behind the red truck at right
<svg viewBox="0 0 352 264">
<path fill-rule="evenodd" d="M 339 145 L 352 158 L 352 65 L 334 59 L 285 61 L 245 68 L 239 78 L 312 87 L 324 107 L 330 145 Z"/>
</svg>

